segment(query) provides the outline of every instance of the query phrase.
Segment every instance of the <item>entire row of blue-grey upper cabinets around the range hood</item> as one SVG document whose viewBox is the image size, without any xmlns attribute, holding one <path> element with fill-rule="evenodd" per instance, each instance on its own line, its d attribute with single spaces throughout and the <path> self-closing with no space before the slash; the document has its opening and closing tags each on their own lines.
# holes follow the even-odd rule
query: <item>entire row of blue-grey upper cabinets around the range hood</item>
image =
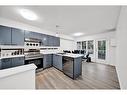
<svg viewBox="0 0 127 95">
<path fill-rule="evenodd" d="M 41 46 L 60 46 L 59 37 L 17 28 L 0 26 L 0 44 L 2 45 L 23 46 L 25 38 L 39 39 L 41 40 Z"/>
</svg>

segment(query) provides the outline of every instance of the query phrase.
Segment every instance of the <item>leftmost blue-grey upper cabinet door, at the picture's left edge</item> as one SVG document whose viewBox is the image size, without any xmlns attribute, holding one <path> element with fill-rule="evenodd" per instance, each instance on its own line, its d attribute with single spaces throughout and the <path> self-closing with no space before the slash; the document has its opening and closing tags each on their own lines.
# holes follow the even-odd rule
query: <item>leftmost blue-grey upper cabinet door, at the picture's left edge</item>
<svg viewBox="0 0 127 95">
<path fill-rule="evenodd" d="M 11 44 L 11 28 L 6 26 L 0 26 L 0 44 Z"/>
</svg>

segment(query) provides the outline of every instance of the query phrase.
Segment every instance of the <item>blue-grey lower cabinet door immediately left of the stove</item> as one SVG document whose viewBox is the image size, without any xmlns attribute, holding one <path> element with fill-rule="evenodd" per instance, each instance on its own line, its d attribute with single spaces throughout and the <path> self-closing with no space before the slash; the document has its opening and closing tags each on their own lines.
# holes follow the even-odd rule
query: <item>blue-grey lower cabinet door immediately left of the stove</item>
<svg viewBox="0 0 127 95">
<path fill-rule="evenodd" d="M 24 65 L 24 57 L 12 58 L 12 67 Z"/>
</svg>

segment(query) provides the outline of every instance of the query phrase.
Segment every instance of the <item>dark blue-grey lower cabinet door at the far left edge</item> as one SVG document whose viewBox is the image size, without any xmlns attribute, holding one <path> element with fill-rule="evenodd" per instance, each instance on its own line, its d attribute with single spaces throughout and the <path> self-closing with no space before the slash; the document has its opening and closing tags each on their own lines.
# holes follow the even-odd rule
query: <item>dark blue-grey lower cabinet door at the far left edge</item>
<svg viewBox="0 0 127 95">
<path fill-rule="evenodd" d="M 11 68 L 11 58 L 1 59 L 1 69 Z"/>
</svg>

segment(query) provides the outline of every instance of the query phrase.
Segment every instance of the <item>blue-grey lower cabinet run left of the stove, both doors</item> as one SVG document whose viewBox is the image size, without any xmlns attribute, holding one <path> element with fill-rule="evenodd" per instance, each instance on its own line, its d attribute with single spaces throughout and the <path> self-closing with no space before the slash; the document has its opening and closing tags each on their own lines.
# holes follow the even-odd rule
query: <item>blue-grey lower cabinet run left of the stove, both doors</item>
<svg viewBox="0 0 127 95">
<path fill-rule="evenodd" d="M 16 66 L 24 65 L 24 57 L 16 57 L 16 58 L 5 58 L 1 59 L 1 68 L 6 69 Z"/>
</svg>

